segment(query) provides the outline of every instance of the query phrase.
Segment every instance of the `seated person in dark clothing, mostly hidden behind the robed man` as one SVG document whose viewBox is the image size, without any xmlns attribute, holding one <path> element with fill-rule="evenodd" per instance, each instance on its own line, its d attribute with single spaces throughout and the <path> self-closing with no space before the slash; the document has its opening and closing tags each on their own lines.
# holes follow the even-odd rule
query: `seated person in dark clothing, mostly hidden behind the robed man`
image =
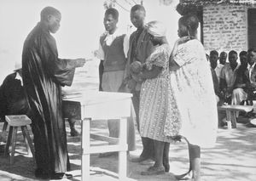
<svg viewBox="0 0 256 181">
<path fill-rule="evenodd" d="M 14 71 L 14 73 L 5 77 L 0 87 L 0 118 L 4 122 L 6 115 L 30 116 L 31 111 L 23 88 L 21 62 L 15 63 Z M 71 135 L 78 135 L 74 128 L 73 120 L 69 119 L 68 122 L 71 128 Z"/>
</svg>

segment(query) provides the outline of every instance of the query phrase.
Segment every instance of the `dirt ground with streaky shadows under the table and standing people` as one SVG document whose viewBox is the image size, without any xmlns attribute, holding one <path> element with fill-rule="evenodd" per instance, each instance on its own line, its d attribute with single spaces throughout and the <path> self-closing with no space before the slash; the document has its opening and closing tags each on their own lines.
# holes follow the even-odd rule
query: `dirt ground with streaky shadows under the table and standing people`
<svg viewBox="0 0 256 181">
<path fill-rule="evenodd" d="M 246 127 L 245 122 L 238 123 L 238 128 L 218 129 L 218 141 L 216 147 L 209 150 L 201 150 L 201 174 L 207 181 L 255 181 L 256 180 L 256 128 Z M 70 137 L 67 125 L 67 144 L 71 161 L 73 178 L 81 180 L 81 148 L 80 136 Z M 0 125 L 2 129 L 3 123 Z M 80 131 L 80 122 L 76 124 Z M 91 132 L 108 134 L 106 122 L 92 122 Z M 30 130 L 31 131 L 31 130 Z M 32 135 L 32 133 L 31 133 Z M 92 140 L 92 144 L 106 144 Z M 9 157 L 0 156 L 0 180 L 38 180 L 33 175 L 35 163 L 32 156 L 26 155 L 26 146 L 22 139 L 22 133 L 18 132 L 16 144 L 15 163 L 9 164 Z M 130 157 L 139 156 L 142 144 L 137 134 L 137 150 L 131 151 Z M 140 165 L 127 161 L 128 180 L 176 180 L 173 174 L 185 173 L 189 168 L 187 145 L 183 142 L 172 144 L 170 148 L 170 173 L 157 176 L 142 176 L 140 173 L 152 163 Z M 92 155 L 90 158 L 91 180 L 117 180 L 118 156 L 99 158 Z M 63 179 L 64 180 L 64 179 Z M 67 180 L 67 179 L 66 179 Z"/>
</svg>

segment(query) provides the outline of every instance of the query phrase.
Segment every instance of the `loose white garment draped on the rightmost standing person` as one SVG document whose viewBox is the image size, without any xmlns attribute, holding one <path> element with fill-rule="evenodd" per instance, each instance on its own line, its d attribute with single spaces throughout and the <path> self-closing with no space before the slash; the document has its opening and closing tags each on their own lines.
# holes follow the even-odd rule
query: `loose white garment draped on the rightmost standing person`
<svg viewBox="0 0 256 181">
<path fill-rule="evenodd" d="M 179 45 L 174 60 L 180 69 L 170 71 L 168 85 L 169 96 L 175 98 L 179 111 L 181 127 L 177 133 L 186 137 L 190 144 L 212 147 L 218 130 L 217 103 L 201 42 L 190 40 Z M 173 106 L 169 105 L 167 117 L 170 116 L 173 116 Z M 165 134 L 173 136 L 173 119 L 166 120 Z"/>
</svg>

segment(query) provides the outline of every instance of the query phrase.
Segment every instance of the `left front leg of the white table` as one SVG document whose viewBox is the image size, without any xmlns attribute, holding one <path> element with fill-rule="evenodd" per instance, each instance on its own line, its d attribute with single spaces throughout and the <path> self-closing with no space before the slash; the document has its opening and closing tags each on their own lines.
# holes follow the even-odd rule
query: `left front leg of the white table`
<svg viewBox="0 0 256 181">
<path fill-rule="evenodd" d="M 82 121 L 82 180 L 90 180 L 90 121 Z"/>
</svg>

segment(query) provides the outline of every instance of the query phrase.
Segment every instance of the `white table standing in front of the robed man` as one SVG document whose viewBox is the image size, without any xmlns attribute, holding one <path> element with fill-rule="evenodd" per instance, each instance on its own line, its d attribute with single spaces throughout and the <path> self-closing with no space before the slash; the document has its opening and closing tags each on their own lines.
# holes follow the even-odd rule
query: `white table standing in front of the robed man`
<svg viewBox="0 0 256 181">
<path fill-rule="evenodd" d="M 126 122 L 131 116 L 131 93 L 107 93 L 83 91 L 64 93 L 63 100 L 78 102 L 82 120 L 82 180 L 90 180 L 90 154 L 119 151 L 119 179 L 126 178 Z M 118 144 L 90 146 L 90 121 L 119 119 L 120 133 Z M 94 138 L 101 138 L 96 136 Z M 102 137 L 105 140 L 112 138 Z M 114 142 L 114 140 L 113 140 Z"/>
</svg>

